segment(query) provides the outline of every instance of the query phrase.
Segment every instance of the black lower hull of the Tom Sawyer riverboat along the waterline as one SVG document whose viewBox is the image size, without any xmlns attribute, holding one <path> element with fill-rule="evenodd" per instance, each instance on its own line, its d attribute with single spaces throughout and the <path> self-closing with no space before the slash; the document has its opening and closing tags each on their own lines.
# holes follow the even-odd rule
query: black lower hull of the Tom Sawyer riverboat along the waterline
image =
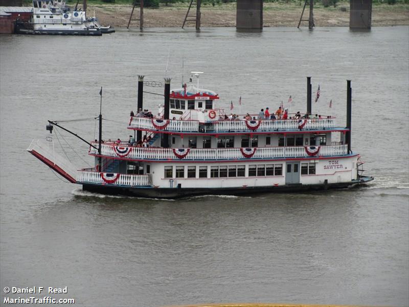
<svg viewBox="0 0 409 307">
<path fill-rule="evenodd" d="M 83 184 L 84 191 L 108 194 L 126 195 L 142 198 L 177 199 L 199 195 L 250 195 L 260 193 L 304 192 L 329 189 L 353 188 L 372 181 L 373 177 L 360 177 L 358 180 L 331 184 L 290 184 L 282 186 L 241 187 L 241 188 L 152 188 L 152 187 L 121 187 L 97 184 Z"/>
</svg>

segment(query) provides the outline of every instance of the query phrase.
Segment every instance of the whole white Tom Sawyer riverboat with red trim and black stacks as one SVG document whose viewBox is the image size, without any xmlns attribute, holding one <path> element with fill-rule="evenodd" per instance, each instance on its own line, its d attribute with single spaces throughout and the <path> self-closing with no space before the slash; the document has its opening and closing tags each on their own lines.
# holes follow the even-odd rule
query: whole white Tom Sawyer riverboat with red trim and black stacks
<svg viewBox="0 0 409 307">
<path fill-rule="evenodd" d="M 164 105 L 153 116 L 144 111 L 143 80 L 139 76 L 138 112 L 126 127 L 129 141 L 102 140 L 99 115 L 99 140 L 87 142 L 93 168 L 77 170 L 50 142 L 33 140 L 27 150 L 83 190 L 144 198 L 327 190 L 374 179 L 362 176 L 363 162 L 351 149 L 349 80 L 346 126 L 337 126 L 332 116 L 311 118 L 310 77 L 305 115 L 287 119 L 229 118 L 217 106 L 219 95 L 201 89 L 198 79 L 172 91 L 165 79 Z M 102 89 L 100 94 L 102 100 Z M 54 125 L 61 127 L 49 121 L 50 133 Z"/>
</svg>

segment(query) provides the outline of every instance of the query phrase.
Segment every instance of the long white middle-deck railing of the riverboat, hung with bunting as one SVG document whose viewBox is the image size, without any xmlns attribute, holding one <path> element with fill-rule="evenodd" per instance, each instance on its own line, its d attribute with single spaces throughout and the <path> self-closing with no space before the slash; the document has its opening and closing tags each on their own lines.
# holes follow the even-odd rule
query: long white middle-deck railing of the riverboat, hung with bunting
<svg viewBox="0 0 409 307">
<path fill-rule="evenodd" d="M 91 147 L 90 155 L 97 155 L 98 150 Z M 101 145 L 101 154 L 103 156 L 119 158 L 112 145 Z M 339 156 L 347 155 L 347 145 L 328 145 L 321 146 L 319 156 Z M 276 158 L 295 158 L 309 157 L 304 146 L 288 147 L 259 147 L 256 149 L 251 159 L 276 159 Z M 125 159 L 134 160 L 175 160 L 180 161 L 173 153 L 172 148 L 162 147 L 132 147 L 131 152 Z M 184 160 L 238 160 L 247 159 L 241 153 L 240 148 L 191 148 Z"/>
</svg>

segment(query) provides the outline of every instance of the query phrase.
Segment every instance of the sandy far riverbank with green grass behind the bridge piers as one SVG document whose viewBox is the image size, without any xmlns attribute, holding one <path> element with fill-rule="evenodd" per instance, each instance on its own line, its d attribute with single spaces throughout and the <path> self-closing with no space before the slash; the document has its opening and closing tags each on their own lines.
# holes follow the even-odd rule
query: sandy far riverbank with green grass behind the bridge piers
<svg viewBox="0 0 409 307">
<path fill-rule="evenodd" d="M 301 3 L 300 3 L 301 4 Z M 144 8 L 144 28 L 181 28 L 188 5 L 178 3 L 161 5 L 158 9 Z M 303 6 L 298 3 L 265 3 L 263 8 L 263 27 L 297 27 Z M 128 25 L 132 6 L 112 4 L 88 4 L 88 16 L 94 13 L 103 25 L 125 28 Z M 322 4 L 314 7 L 314 23 L 318 27 L 349 27 L 349 2 L 340 2 L 336 8 L 324 8 Z M 308 8 L 304 18 L 308 16 Z M 133 18 L 139 17 L 135 7 Z M 372 27 L 409 26 L 409 4 L 374 4 L 372 7 Z M 185 28 L 194 28 L 188 22 Z M 236 27 L 236 4 L 202 5 L 201 27 Z M 300 28 L 308 27 L 303 21 Z M 139 21 L 131 21 L 129 28 L 139 28 Z"/>
</svg>

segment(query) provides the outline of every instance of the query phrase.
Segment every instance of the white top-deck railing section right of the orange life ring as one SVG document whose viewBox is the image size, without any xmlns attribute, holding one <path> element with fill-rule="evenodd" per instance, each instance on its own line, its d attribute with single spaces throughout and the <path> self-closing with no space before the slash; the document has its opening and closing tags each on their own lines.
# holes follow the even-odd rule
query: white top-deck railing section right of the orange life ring
<svg viewBox="0 0 409 307">
<path fill-rule="evenodd" d="M 297 119 L 270 119 L 261 120 L 257 131 L 276 130 L 276 129 L 298 129 L 299 120 Z M 334 128 L 333 118 L 308 119 L 303 129 L 321 129 Z M 214 123 L 214 130 L 218 131 L 245 131 L 249 130 L 244 120 L 223 120 Z"/>
</svg>

